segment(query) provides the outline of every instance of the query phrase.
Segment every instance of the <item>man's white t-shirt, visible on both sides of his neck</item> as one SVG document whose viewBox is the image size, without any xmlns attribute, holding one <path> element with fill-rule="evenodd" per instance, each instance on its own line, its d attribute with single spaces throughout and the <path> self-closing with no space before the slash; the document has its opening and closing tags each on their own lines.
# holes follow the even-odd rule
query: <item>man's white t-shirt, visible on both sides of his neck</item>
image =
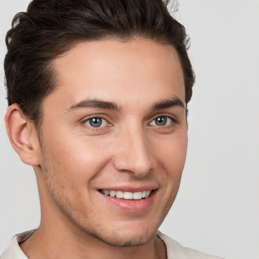
<svg viewBox="0 0 259 259">
<path fill-rule="evenodd" d="M 28 259 L 28 257 L 20 248 L 19 243 L 28 239 L 34 231 L 35 230 L 30 230 L 15 235 L 13 237 L 11 246 L 2 254 L 0 259 Z M 157 236 L 160 237 L 166 245 L 167 259 L 223 259 L 183 247 L 178 242 L 167 237 L 159 231 L 157 231 Z"/>
</svg>

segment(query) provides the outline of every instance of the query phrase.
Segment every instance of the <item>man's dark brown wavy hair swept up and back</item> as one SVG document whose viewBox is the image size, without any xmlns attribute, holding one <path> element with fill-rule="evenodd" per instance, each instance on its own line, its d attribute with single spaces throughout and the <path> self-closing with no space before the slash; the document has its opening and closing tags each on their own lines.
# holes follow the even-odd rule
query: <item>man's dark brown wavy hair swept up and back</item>
<svg viewBox="0 0 259 259">
<path fill-rule="evenodd" d="M 81 41 L 134 37 L 173 46 L 185 81 L 185 102 L 195 81 L 185 27 L 163 0 L 33 0 L 7 32 L 5 76 L 8 104 L 17 103 L 39 128 L 41 104 L 56 87 L 52 61 Z"/>
</svg>

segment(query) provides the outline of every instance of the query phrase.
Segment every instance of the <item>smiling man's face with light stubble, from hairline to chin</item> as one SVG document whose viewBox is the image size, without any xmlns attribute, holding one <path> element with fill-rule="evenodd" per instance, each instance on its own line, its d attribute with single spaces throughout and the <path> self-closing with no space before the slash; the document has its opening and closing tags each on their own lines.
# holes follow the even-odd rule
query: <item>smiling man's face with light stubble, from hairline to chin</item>
<svg viewBox="0 0 259 259">
<path fill-rule="evenodd" d="M 42 219 L 112 245 L 149 242 L 186 158 L 175 49 L 150 40 L 83 42 L 53 65 L 59 83 L 43 102 L 35 168 Z"/>
</svg>

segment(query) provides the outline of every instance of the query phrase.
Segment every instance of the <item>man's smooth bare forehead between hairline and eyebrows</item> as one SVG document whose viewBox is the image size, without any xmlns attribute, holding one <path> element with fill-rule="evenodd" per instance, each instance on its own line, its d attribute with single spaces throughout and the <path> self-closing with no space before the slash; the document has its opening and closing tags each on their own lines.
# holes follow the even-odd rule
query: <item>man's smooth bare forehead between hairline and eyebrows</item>
<svg viewBox="0 0 259 259">
<path fill-rule="evenodd" d="M 53 65 L 58 87 L 50 96 L 64 109 L 85 98 L 120 104 L 154 103 L 172 96 L 185 100 L 176 50 L 151 40 L 81 42 Z"/>
</svg>

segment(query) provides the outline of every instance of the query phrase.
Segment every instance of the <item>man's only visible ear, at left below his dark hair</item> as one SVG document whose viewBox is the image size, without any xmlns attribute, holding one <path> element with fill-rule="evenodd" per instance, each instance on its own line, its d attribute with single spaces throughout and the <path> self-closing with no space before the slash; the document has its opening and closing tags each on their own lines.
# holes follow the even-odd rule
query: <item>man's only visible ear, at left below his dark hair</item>
<svg viewBox="0 0 259 259">
<path fill-rule="evenodd" d="M 8 107 L 5 122 L 11 145 L 20 159 L 25 164 L 39 165 L 39 142 L 36 129 L 18 104 Z"/>
</svg>

